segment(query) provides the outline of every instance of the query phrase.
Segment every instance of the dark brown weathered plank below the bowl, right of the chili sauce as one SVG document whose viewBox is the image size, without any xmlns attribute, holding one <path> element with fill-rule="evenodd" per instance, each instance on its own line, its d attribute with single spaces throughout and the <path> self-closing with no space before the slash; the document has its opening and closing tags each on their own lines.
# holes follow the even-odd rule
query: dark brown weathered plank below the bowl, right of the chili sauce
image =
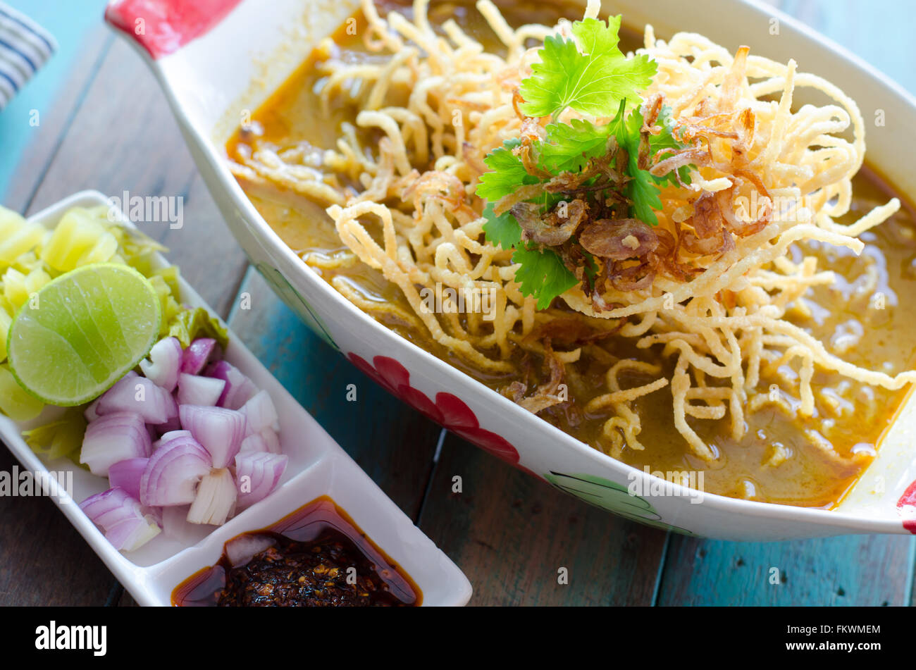
<svg viewBox="0 0 916 670">
<path fill-rule="evenodd" d="M 471 580 L 472 605 L 649 605 L 666 538 L 451 433 L 419 525 Z M 558 583 L 562 567 L 568 584 Z"/>
</svg>

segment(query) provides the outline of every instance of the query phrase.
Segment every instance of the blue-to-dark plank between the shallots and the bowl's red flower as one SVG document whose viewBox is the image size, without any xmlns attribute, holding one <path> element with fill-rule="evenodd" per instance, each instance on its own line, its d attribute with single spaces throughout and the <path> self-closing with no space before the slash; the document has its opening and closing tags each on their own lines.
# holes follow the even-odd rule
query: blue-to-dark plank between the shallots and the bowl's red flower
<svg viewBox="0 0 916 670">
<path fill-rule="evenodd" d="M 230 326 L 281 384 L 387 495 L 416 520 L 441 428 L 333 351 L 284 305 L 254 270 Z M 354 384 L 355 402 L 346 399 Z"/>
</svg>

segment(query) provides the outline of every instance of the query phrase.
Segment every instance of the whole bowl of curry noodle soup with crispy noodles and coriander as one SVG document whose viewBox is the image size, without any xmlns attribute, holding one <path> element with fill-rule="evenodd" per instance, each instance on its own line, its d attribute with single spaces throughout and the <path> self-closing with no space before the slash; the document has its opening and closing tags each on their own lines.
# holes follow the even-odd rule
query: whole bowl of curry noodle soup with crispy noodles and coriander
<svg viewBox="0 0 916 670">
<path fill-rule="evenodd" d="M 643 524 L 916 528 L 916 102 L 878 71 L 741 0 L 146 5 L 107 20 L 229 229 L 377 383 Z"/>
</svg>

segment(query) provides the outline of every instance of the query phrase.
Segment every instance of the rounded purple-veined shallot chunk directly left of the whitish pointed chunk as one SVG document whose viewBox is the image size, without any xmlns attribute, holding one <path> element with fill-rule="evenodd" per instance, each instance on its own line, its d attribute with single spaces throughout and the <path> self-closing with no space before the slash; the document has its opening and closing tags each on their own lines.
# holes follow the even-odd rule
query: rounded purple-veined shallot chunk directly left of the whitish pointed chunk
<svg viewBox="0 0 916 670">
<path fill-rule="evenodd" d="M 194 438 L 169 440 L 149 458 L 140 478 L 140 502 L 182 505 L 194 501 L 197 482 L 210 471 L 210 454 Z"/>
</svg>

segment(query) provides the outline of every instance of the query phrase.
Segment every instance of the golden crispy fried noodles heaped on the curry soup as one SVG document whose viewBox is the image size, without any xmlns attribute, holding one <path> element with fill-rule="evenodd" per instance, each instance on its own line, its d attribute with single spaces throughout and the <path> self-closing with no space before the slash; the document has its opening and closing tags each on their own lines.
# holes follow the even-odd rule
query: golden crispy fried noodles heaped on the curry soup
<svg viewBox="0 0 916 670">
<path fill-rule="evenodd" d="M 603 448 L 615 456 L 623 448 L 643 448 L 632 404 L 664 389 L 673 399 L 675 427 L 696 456 L 709 460 L 714 452 L 688 417 L 728 417 L 732 435 L 740 438 L 745 413 L 768 404 L 771 384 L 791 385 L 786 390 L 801 402 L 787 411 L 811 416 L 815 370 L 889 389 L 916 381 L 913 372 L 889 376 L 844 362 L 784 318 L 787 309 L 803 308 L 810 286 L 834 281 L 813 255 L 792 260 L 791 245 L 816 241 L 857 254 L 864 246 L 857 236 L 900 207 L 890 200 L 851 225 L 834 222 L 850 208 L 851 179 L 865 154 L 856 103 L 828 81 L 796 71 L 792 60 L 781 64 L 749 55 L 747 48 L 733 55 L 692 33 L 666 42 L 647 27 L 638 51 L 658 63 L 643 93 L 643 115 L 654 118 L 649 108 L 658 110 L 664 101 L 684 142 L 682 149 L 653 157 L 651 173 L 691 169 L 689 185 L 678 179 L 661 189 L 653 229 L 658 244 L 649 254 L 655 265 L 629 282 L 620 280 L 626 267 L 617 267 L 616 276 L 599 275 L 604 284 L 594 294 L 576 286 L 562 295 L 568 307 L 555 302 L 537 310 L 514 280 L 511 250 L 485 240 L 483 202 L 474 190 L 490 151 L 540 132 L 519 112 L 519 82 L 530 74 L 544 38 L 568 35 L 570 24 L 513 29 L 490 0 L 477 8 L 505 45 L 503 56 L 487 52 L 452 20 L 434 31 L 426 0 L 416 0 L 412 21 L 395 11 L 382 18 L 364 1 L 366 44 L 388 58 L 346 62 L 335 59 L 329 45 L 320 64 L 326 75 L 322 102 L 357 104 L 356 125 L 376 129 L 380 139 L 367 150 L 355 132 L 344 133 L 323 162 L 361 188 L 329 184 L 296 156 L 267 152 L 238 169 L 329 205 L 341 240 L 400 287 L 422 328 L 453 354 L 490 373 L 511 370 L 510 355 L 519 347 L 544 357 L 550 382 L 533 391 L 517 382 L 507 390 L 531 411 L 562 401 L 563 366 L 591 355 L 594 340 L 616 334 L 639 349 L 662 349 L 671 357 L 670 378 L 659 365 L 611 358 L 606 393 L 585 406 L 586 413 L 607 416 Z M 590 2 L 586 16 L 597 11 Z M 801 89 L 831 102 L 793 112 Z M 506 211 L 512 204 L 498 207 Z M 628 235 L 623 243 L 636 249 L 640 239 Z M 437 284 L 492 292 L 495 318 L 470 309 L 432 313 L 420 291 Z M 563 340 L 560 326 L 583 334 L 567 332 Z M 563 341 L 573 348 L 554 349 Z M 798 373 L 780 376 L 780 367 L 789 364 Z M 618 375 L 627 372 L 654 381 L 621 388 Z"/>
</svg>

